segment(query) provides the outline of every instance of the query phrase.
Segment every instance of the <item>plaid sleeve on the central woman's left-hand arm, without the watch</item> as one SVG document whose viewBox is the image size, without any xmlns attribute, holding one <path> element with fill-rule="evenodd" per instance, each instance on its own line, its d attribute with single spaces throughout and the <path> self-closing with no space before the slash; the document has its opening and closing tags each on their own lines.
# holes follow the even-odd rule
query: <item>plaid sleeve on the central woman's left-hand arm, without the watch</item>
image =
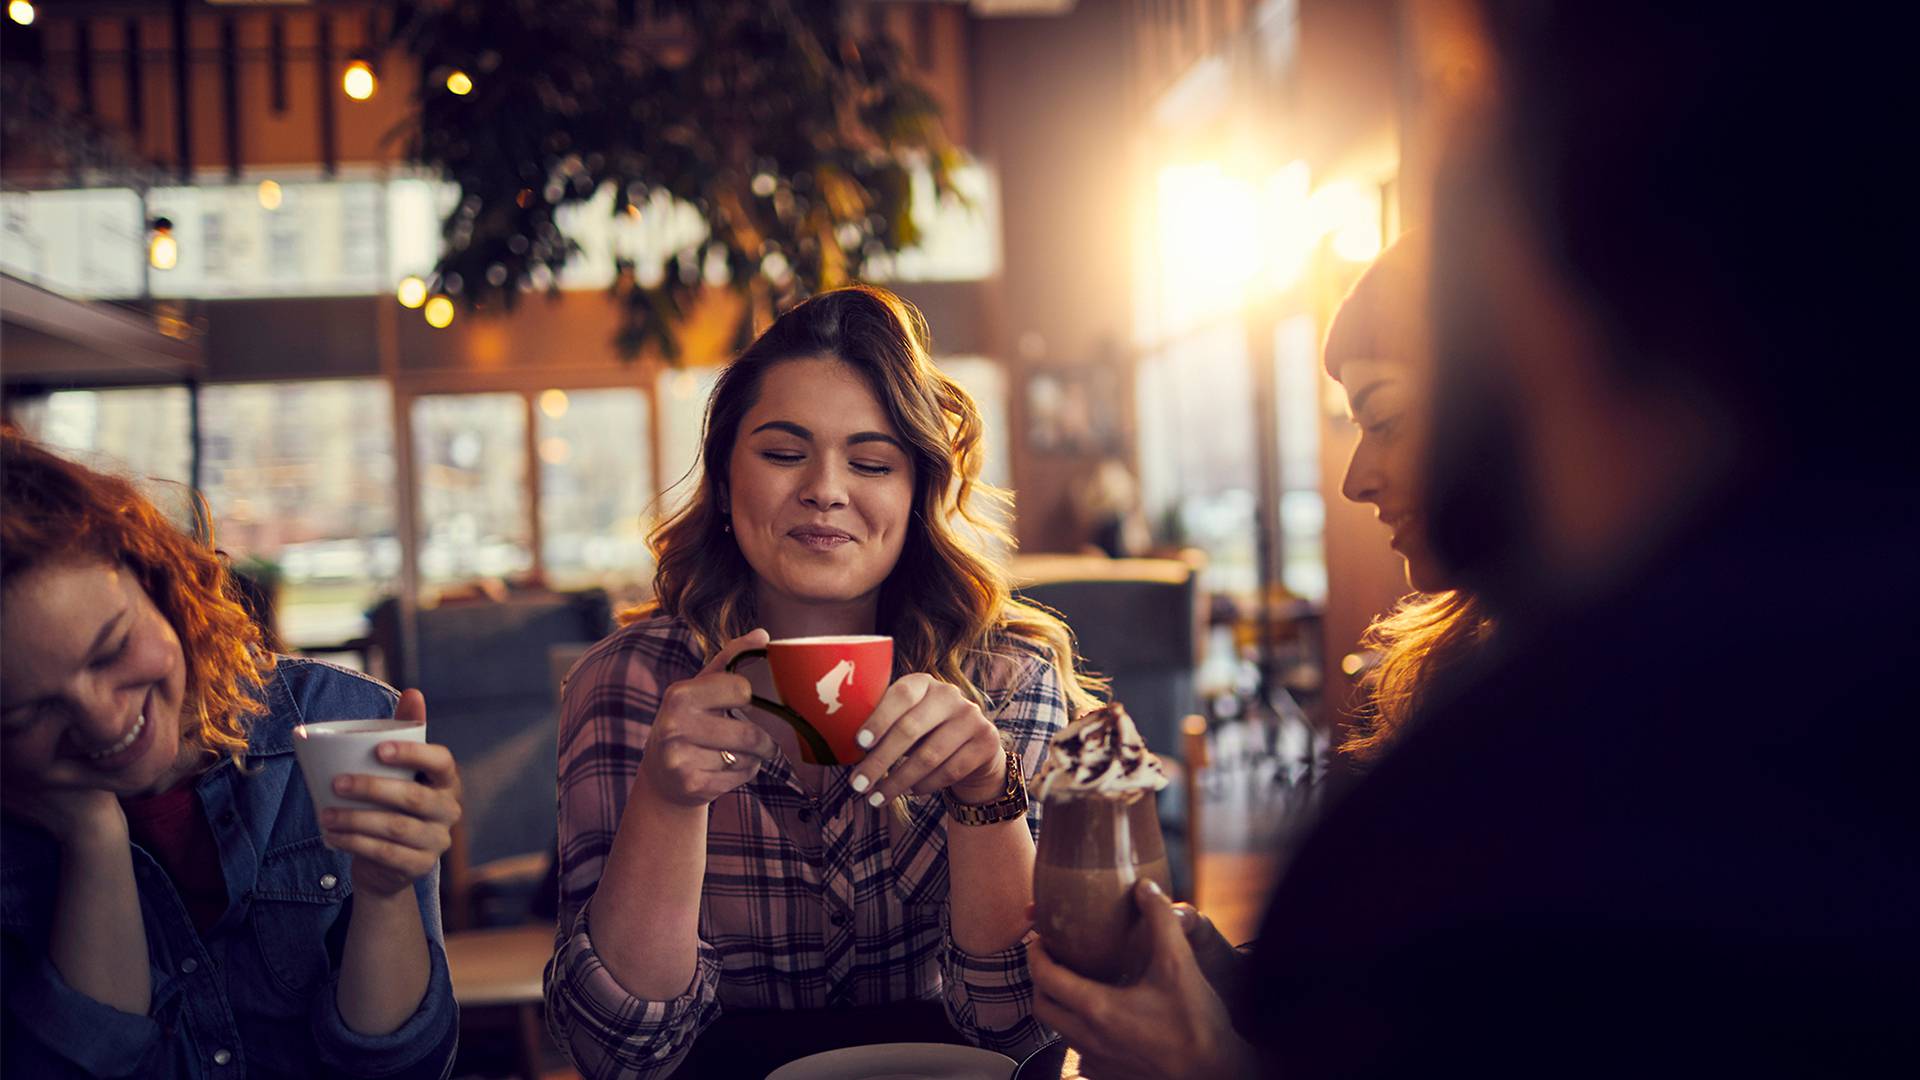
<svg viewBox="0 0 1920 1080">
<path fill-rule="evenodd" d="M 720 1015 L 720 953 L 697 945 L 668 1001 L 636 997 L 593 947 L 591 899 L 668 678 L 655 642 L 605 644 L 568 675 L 559 746 L 561 915 L 547 963 L 547 1028 L 589 1080 L 666 1076 Z M 691 675 L 691 671 L 687 671 Z"/>
</svg>

